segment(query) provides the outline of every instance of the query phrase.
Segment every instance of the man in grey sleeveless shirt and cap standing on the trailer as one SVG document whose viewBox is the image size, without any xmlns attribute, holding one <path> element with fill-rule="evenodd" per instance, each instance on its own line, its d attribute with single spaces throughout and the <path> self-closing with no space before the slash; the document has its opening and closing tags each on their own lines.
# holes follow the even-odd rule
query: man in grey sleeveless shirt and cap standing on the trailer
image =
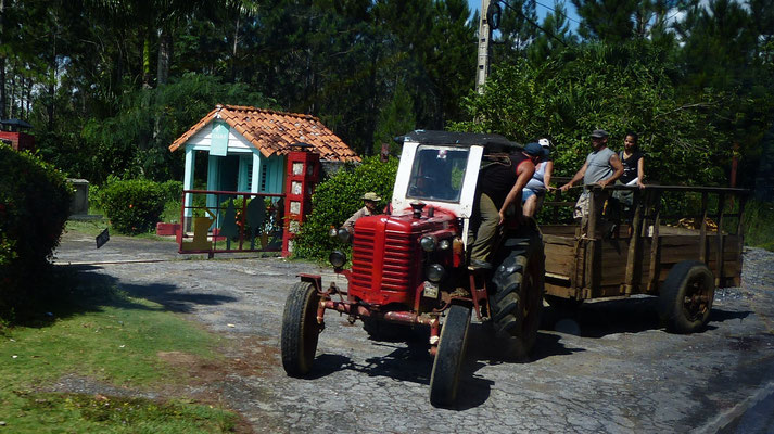
<svg viewBox="0 0 774 434">
<path fill-rule="evenodd" d="M 572 177 L 570 182 L 561 186 L 561 191 L 567 191 L 575 182 L 583 179 L 584 186 L 593 183 L 599 184 L 602 188 L 616 182 L 623 175 L 623 165 L 618 154 L 607 146 L 608 132 L 604 129 L 595 129 L 592 132 L 592 151 L 586 157 L 586 163 L 583 164 L 580 170 Z M 583 194 L 579 197 L 575 204 L 575 218 L 585 219 L 588 215 L 588 191 L 584 189 Z"/>
</svg>

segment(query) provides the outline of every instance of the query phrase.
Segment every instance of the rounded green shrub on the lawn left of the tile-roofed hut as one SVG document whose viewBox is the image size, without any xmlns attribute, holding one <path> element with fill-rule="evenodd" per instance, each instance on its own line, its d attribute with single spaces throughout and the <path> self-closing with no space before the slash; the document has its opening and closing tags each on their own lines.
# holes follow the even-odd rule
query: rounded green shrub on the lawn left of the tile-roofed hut
<svg viewBox="0 0 774 434">
<path fill-rule="evenodd" d="M 111 178 L 100 189 L 99 202 L 111 226 L 118 232 L 149 232 L 164 212 L 168 192 L 147 179 Z"/>
</svg>

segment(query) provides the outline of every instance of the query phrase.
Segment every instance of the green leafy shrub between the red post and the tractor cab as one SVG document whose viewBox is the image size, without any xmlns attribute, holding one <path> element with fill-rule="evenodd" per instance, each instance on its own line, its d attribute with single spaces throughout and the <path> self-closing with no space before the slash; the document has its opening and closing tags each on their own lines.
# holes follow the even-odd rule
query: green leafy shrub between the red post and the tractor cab
<svg viewBox="0 0 774 434">
<path fill-rule="evenodd" d="M 322 181 L 312 197 L 312 214 L 295 239 L 293 255 L 325 259 L 333 248 L 345 250 L 328 237 L 331 226 L 340 227 L 357 209 L 363 207 L 363 195 L 373 191 L 382 197 L 380 209 L 392 197 L 392 188 L 397 173 L 397 158 L 382 163 L 370 157 L 356 167 L 339 170 Z"/>
</svg>

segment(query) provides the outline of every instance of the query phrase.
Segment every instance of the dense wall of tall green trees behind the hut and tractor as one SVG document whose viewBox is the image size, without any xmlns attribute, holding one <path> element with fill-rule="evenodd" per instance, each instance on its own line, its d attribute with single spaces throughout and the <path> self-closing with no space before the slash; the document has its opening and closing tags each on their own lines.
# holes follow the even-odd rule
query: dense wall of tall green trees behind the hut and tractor
<svg viewBox="0 0 774 434">
<path fill-rule="evenodd" d="M 216 103 L 313 114 L 366 155 L 456 126 L 550 135 L 569 167 L 605 127 L 642 132 L 664 180 L 724 183 L 737 144 L 744 182 L 774 167 L 774 0 L 570 1 L 580 24 L 562 0 L 492 1 L 479 95 L 466 0 L 0 0 L 0 115 L 94 182 L 179 178 L 166 146 Z"/>
</svg>

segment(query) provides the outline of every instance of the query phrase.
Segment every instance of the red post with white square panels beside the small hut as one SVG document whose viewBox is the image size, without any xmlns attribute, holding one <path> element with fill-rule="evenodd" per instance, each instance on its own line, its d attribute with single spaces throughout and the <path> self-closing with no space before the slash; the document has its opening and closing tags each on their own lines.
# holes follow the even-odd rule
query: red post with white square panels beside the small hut
<svg viewBox="0 0 774 434">
<path fill-rule="evenodd" d="M 312 212 L 312 194 L 320 176 L 320 154 L 313 151 L 291 151 L 284 182 L 284 225 L 282 256 L 293 252 L 293 238 Z"/>
</svg>

